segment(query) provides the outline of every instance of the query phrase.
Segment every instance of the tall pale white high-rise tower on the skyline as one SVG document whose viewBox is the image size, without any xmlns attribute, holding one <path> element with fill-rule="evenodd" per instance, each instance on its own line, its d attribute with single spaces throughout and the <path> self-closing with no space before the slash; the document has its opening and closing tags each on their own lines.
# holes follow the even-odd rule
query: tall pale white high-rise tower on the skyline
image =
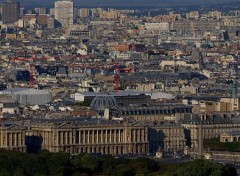
<svg viewBox="0 0 240 176">
<path fill-rule="evenodd" d="M 55 2 L 55 19 L 62 27 L 73 25 L 73 2 L 71 0 Z"/>
</svg>

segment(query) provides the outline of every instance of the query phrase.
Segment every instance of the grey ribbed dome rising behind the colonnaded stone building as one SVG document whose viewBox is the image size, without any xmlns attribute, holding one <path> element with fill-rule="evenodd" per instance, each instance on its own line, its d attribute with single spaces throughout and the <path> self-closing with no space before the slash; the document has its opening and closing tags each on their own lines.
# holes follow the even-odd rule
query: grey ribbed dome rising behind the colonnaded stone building
<svg viewBox="0 0 240 176">
<path fill-rule="evenodd" d="M 98 114 L 103 114 L 105 109 L 114 108 L 117 105 L 118 102 L 114 96 L 101 95 L 92 100 L 90 107 Z"/>
</svg>

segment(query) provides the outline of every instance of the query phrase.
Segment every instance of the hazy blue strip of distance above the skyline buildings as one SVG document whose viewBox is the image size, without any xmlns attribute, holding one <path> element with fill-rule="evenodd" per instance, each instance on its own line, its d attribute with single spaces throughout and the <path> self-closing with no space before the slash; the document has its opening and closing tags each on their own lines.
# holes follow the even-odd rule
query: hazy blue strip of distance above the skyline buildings
<svg viewBox="0 0 240 176">
<path fill-rule="evenodd" d="M 53 6 L 56 0 L 20 0 L 23 6 Z M 240 0 L 203 0 L 207 3 L 239 2 Z M 198 5 L 202 0 L 74 0 L 76 6 L 178 6 Z"/>
</svg>

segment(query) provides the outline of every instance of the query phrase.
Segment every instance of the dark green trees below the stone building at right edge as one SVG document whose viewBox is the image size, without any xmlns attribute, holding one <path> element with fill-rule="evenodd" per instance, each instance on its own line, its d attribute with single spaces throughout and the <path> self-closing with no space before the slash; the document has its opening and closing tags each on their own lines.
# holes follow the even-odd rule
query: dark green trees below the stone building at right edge
<svg viewBox="0 0 240 176">
<path fill-rule="evenodd" d="M 240 151 L 240 142 L 220 142 L 219 138 L 204 139 L 203 145 L 206 149 Z"/>
</svg>

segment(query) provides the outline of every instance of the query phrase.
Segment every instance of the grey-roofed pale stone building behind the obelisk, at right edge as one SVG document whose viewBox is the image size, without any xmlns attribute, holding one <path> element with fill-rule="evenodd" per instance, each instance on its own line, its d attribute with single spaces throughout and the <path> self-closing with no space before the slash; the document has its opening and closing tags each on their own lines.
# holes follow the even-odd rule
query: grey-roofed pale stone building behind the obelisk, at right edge
<svg viewBox="0 0 240 176">
<path fill-rule="evenodd" d="M 227 114 L 196 114 L 185 117 L 180 123 L 185 128 L 187 143 L 192 150 L 198 150 L 203 139 L 217 138 L 221 133 L 240 128 L 240 118 Z"/>
</svg>

